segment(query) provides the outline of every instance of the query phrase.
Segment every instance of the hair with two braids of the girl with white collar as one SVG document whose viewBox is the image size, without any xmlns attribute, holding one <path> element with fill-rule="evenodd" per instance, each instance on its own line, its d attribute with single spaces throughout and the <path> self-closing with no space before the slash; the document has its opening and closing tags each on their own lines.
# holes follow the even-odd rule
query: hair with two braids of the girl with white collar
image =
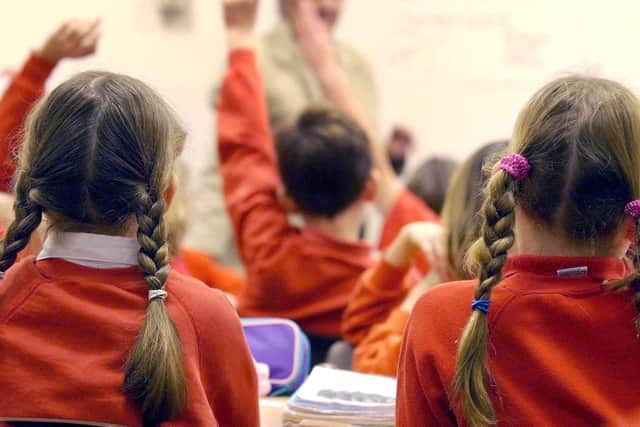
<svg viewBox="0 0 640 427">
<path fill-rule="evenodd" d="M 144 280 L 162 293 L 169 272 L 163 193 L 183 141 L 170 108 L 141 81 L 86 72 L 58 86 L 26 124 L 0 270 L 13 264 L 43 213 L 62 230 L 126 234 L 137 223 Z M 145 425 L 184 408 L 180 339 L 161 298 L 149 302 L 125 371 Z"/>
</svg>

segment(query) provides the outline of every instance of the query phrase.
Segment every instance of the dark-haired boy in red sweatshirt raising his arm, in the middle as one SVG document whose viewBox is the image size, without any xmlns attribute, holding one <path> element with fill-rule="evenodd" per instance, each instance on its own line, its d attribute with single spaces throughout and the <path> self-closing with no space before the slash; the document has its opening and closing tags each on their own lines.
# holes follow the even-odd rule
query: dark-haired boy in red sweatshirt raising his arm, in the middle
<svg viewBox="0 0 640 427">
<path fill-rule="evenodd" d="M 238 2 L 238 13 L 255 14 L 255 2 Z M 306 112 L 279 134 L 276 154 L 252 48 L 253 21 L 240 22 L 227 28 L 229 69 L 218 105 L 224 196 L 247 270 L 239 312 L 295 320 L 322 354 L 340 336 L 355 282 L 372 265 L 371 247 L 358 238 L 365 204 L 375 199 L 389 213 L 388 234 L 437 216 L 393 171 L 380 172 L 384 153 L 371 150 L 382 147 L 356 124 L 363 123 L 357 112 L 350 114 L 356 121 L 331 110 Z M 346 103 L 334 105 L 351 112 L 345 96 Z M 302 214 L 302 229 L 289 224 L 289 212 Z"/>
</svg>

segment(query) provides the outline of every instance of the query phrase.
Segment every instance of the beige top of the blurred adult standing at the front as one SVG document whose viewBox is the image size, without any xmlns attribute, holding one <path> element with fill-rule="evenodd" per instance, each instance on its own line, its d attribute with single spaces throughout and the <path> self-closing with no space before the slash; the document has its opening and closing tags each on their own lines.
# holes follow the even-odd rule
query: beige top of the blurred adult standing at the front
<svg viewBox="0 0 640 427">
<path fill-rule="evenodd" d="M 258 66 L 265 85 L 272 129 L 293 122 L 307 107 L 326 104 L 322 89 L 304 61 L 286 22 L 276 25 L 258 43 Z M 338 62 L 344 67 L 355 95 L 370 123 L 377 117 L 376 90 L 367 61 L 345 43 L 335 42 Z M 210 253 L 223 264 L 239 265 L 232 229 L 222 200 L 217 150 L 202 172 L 198 197 L 186 244 Z"/>
</svg>

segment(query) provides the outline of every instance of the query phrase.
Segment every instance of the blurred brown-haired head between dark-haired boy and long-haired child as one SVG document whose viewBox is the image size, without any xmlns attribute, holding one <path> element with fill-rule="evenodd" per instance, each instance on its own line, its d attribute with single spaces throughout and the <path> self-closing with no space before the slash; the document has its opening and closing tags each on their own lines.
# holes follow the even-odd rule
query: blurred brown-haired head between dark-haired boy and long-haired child
<svg viewBox="0 0 640 427">
<path fill-rule="evenodd" d="M 451 159 L 429 158 L 413 173 L 407 188 L 440 214 L 449 180 L 455 168 L 456 162 Z"/>
</svg>

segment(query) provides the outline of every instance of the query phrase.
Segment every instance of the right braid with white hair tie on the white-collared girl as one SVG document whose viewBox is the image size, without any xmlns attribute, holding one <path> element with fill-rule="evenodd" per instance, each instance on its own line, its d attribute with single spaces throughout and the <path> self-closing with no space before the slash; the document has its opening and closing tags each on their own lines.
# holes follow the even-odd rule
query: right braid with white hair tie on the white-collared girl
<svg viewBox="0 0 640 427">
<path fill-rule="evenodd" d="M 164 289 L 170 270 L 164 210 L 162 198 L 145 193 L 137 212 L 138 262 L 150 290 Z M 186 406 L 180 336 L 162 298 L 149 301 L 144 325 L 125 366 L 124 388 L 142 408 L 145 426 L 169 420 Z"/>
</svg>

